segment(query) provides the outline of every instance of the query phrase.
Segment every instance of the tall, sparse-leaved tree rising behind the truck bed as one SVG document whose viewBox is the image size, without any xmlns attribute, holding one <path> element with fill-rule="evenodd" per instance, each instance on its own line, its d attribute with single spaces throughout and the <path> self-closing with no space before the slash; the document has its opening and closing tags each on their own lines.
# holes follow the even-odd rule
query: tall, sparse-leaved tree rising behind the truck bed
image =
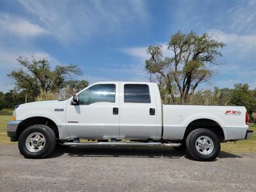
<svg viewBox="0 0 256 192">
<path fill-rule="evenodd" d="M 178 93 L 180 102 L 186 103 L 198 84 L 214 75 L 211 66 L 217 65 L 216 58 L 221 56 L 220 49 L 224 46 L 207 33 L 196 35 L 193 31 L 188 34 L 179 31 L 168 42 L 168 50 L 173 56 L 164 57 L 162 45 L 150 45 L 147 53 L 151 57 L 146 60 L 145 68 L 150 74 L 163 77 L 172 102 Z"/>
</svg>

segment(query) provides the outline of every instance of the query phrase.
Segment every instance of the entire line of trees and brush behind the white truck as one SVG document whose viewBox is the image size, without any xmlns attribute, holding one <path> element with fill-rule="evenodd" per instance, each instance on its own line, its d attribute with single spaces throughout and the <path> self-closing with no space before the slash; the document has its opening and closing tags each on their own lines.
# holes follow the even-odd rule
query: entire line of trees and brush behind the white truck
<svg viewBox="0 0 256 192">
<path fill-rule="evenodd" d="M 178 31 L 168 41 L 170 56 L 164 55 L 162 45 L 150 45 L 145 70 L 150 81 L 159 85 L 164 104 L 236 105 L 246 106 L 253 121 L 256 111 L 256 89 L 248 84 L 235 84 L 234 88 L 218 87 L 198 90 L 215 74 L 214 66 L 225 47 L 207 33 L 197 35 Z M 19 57 L 20 68 L 8 74 L 15 87 L 10 92 L 0 92 L 0 109 L 35 100 L 67 99 L 88 86 L 88 81 L 77 80 L 81 68 L 74 64 L 56 65 L 51 68 L 46 58 L 37 60 Z"/>
</svg>

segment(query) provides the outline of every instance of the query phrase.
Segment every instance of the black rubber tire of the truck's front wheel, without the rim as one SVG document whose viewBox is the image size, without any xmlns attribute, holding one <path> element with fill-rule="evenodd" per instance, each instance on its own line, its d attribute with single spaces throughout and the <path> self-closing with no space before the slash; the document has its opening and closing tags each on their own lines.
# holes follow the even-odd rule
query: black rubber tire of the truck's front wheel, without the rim
<svg viewBox="0 0 256 192">
<path fill-rule="evenodd" d="M 26 147 L 26 139 L 33 132 L 39 132 L 45 138 L 44 147 L 38 152 L 31 152 L 28 147 Z M 40 159 L 49 156 L 54 150 L 56 145 L 56 136 L 54 131 L 46 125 L 31 125 L 26 128 L 19 136 L 19 150 L 20 154 L 28 159 Z"/>
</svg>

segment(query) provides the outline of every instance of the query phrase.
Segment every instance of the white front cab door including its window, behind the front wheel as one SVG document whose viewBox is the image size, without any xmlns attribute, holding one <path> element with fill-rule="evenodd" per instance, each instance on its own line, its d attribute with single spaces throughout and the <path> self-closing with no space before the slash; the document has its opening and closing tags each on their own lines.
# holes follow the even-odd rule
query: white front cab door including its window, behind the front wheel
<svg viewBox="0 0 256 192">
<path fill-rule="evenodd" d="M 66 125 L 70 138 L 119 137 L 120 83 L 100 83 L 78 95 L 79 105 L 67 105 Z"/>
</svg>

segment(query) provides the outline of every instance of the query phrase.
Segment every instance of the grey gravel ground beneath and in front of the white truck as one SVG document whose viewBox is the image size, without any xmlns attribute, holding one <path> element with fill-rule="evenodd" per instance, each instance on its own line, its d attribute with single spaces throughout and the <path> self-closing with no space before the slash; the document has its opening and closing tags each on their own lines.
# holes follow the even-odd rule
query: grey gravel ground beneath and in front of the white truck
<svg viewBox="0 0 256 192">
<path fill-rule="evenodd" d="M 59 148 L 24 159 L 0 145 L 0 191 L 256 191 L 256 154 L 213 162 L 164 147 Z"/>
</svg>

